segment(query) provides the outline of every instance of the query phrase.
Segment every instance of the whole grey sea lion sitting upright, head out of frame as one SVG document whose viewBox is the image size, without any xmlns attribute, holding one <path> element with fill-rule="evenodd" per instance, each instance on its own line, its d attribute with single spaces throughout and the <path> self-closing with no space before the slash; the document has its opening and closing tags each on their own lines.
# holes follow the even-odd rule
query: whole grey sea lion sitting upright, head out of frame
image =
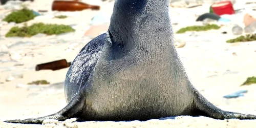
<svg viewBox="0 0 256 128">
<path fill-rule="evenodd" d="M 174 47 L 168 5 L 169 0 L 116 0 L 109 31 L 90 41 L 67 73 L 68 105 L 45 117 L 5 122 L 256 119 L 217 108 L 193 87 Z"/>
</svg>

